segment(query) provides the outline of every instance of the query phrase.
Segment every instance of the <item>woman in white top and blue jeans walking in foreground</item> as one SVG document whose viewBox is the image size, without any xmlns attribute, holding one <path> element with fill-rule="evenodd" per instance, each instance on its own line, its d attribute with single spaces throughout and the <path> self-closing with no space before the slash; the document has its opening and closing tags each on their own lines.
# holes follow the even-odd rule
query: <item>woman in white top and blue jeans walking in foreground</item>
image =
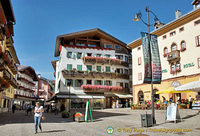
<svg viewBox="0 0 200 136">
<path fill-rule="evenodd" d="M 34 110 L 35 134 L 37 133 L 38 126 L 40 128 L 40 131 L 42 132 L 41 118 L 42 118 L 43 112 L 44 112 L 43 106 L 40 106 L 40 103 L 36 102 L 36 106 L 35 106 L 35 110 Z"/>
</svg>

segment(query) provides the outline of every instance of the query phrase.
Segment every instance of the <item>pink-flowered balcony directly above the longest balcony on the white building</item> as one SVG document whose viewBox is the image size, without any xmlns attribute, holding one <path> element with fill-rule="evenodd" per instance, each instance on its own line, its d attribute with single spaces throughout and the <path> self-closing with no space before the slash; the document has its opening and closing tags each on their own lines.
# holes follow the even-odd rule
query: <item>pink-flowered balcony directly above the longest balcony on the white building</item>
<svg viewBox="0 0 200 136">
<path fill-rule="evenodd" d="M 82 57 L 84 63 L 89 64 L 110 64 L 110 65 L 122 65 L 125 67 L 129 67 L 129 63 L 125 61 L 121 61 L 120 59 L 115 58 L 104 58 L 104 57 L 94 57 L 94 56 L 87 56 Z"/>
</svg>

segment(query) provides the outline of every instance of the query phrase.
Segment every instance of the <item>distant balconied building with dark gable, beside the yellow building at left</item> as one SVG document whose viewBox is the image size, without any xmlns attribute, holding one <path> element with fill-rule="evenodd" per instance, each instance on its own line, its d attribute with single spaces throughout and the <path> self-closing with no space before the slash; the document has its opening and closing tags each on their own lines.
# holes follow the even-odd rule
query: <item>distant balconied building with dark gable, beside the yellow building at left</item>
<svg viewBox="0 0 200 136">
<path fill-rule="evenodd" d="M 27 105 L 35 105 L 37 96 L 34 94 L 34 81 L 37 81 L 35 70 L 30 66 L 18 65 L 17 83 L 14 103 L 25 109 Z"/>
</svg>

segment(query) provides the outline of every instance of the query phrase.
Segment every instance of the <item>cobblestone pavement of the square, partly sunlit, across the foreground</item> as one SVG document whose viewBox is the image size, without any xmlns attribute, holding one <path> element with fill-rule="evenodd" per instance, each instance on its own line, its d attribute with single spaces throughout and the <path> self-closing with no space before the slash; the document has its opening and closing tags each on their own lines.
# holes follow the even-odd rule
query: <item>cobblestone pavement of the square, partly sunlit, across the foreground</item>
<svg viewBox="0 0 200 136">
<path fill-rule="evenodd" d="M 151 113 L 150 110 L 146 110 Z M 74 122 L 72 118 L 64 119 L 61 115 L 45 113 L 46 120 L 42 122 L 43 132 L 34 134 L 33 115 L 25 116 L 24 111 L 0 114 L 0 136 L 199 136 L 200 115 L 193 110 L 180 110 L 182 122 L 165 122 L 164 110 L 156 110 L 157 125 L 150 128 L 141 127 L 140 114 L 144 110 L 105 109 L 93 111 L 93 122 Z M 107 128 L 114 129 L 113 134 L 107 133 Z M 181 132 L 156 132 L 156 131 Z M 143 132 L 144 131 L 144 132 Z"/>
</svg>

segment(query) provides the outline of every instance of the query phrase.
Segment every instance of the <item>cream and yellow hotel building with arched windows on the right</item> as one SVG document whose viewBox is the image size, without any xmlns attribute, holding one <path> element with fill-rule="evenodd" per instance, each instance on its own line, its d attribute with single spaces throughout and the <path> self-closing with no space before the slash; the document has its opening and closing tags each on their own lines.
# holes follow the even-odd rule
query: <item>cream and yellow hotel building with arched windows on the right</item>
<svg viewBox="0 0 200 136">
<path fill-rule="evenodd" d="M 155 29 L 152 34 L 158 36 L 158 46 L 162 67 L 162 82 L 154 84 L 154 91 L 177 87 L 200 78 L 200 9 L 199 2 L 194 9 L 181 15 L 176 11 L 176 19 Z M 133 101 L 134 104 L 151 100 L 151 85 L 144 84 L 144 63 L 141 39 L 128 44 L 132 48 L 133 67 Z M 180 99 L 195 98 L 197 93 L 176 94 Z M 172 94 L 154 95 L 163 101 Z"/>
</svg>

